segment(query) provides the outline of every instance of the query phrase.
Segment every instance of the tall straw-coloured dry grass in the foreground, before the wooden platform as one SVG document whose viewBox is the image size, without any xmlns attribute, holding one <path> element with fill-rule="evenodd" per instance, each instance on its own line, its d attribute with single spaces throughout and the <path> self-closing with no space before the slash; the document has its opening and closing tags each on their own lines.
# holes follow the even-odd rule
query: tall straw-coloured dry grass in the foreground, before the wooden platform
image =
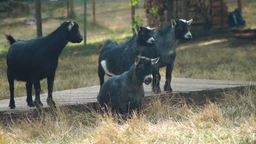
<svg viewBox="0 0 256 144">
<path fill-rule="evenodd" d="M 205 106 L 155 97 L 127 120 L 113 113 L 62 107 L 55 114 L 2 119 L 0 139 L 5 143 L 254 143 L 255 100 L 255 89 L 227 93 L 224 100 Z"/>
</svg>

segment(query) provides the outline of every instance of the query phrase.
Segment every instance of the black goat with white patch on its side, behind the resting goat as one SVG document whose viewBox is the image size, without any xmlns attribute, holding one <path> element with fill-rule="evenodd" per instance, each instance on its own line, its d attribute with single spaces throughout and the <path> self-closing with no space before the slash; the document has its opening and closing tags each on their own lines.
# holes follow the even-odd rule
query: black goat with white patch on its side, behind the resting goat
<svg viewBox="0 0 256 144">
<path fill-rule="evenodd" d="M 126 43 L 106 41 L 98 58 L 98 77 L 101 86 L 104 83 L 105 74 L 120 75 L 129 70 L 142 49 L 155 43 L 152 37 L 155 29 L 136 26 L 136 34 Z"/>
</svg>

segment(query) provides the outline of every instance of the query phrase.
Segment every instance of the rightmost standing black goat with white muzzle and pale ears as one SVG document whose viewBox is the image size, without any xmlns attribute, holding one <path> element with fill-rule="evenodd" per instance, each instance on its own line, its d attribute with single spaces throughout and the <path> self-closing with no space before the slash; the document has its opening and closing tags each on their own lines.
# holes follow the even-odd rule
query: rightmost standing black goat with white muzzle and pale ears
<svg viewBox="0 0 256 144">
<path fill-rule="evenodd" d="M 154 65 L 152 71 L 153 82 L 152 87 L 155 93 L 160 93 L 159 82 L 161 75 L 159 69 L 166 67 L 166 81 L 164 90 L 166 92 L 172 92 L 171 80 L 173 64 L 176 57 L 176 47 L 179 39 L 192 39 L 192 35 L 189 32 L 189 25 L 193 19 L 186 20 L 171 20 L 171 24 L 167 24 L 165 27 L 155 32 L 153 37 L 155 38 L 155 45 L 148 47 L 147 50 L 143 50 L 142 56 L 149 58 L 160 57 L 158 64 Z"/>
</svg>

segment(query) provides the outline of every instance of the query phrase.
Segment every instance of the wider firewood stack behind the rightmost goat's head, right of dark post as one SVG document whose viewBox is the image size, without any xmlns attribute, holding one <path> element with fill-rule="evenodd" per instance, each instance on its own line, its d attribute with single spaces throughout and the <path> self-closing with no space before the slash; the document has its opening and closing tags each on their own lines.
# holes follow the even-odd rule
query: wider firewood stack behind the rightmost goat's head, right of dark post
<svg viewBox="0 0 256 144">
<path fill-rule="evenodd" d="M 228 7 L 224 0 L 187 0 L 187 18 L 193 19 L 193 29 L 228 26 Z M 174 1 L 176 17 L 184 19 L 184 0 Z M 184 17 L 184 18 L 183 18 Z"/>
</svg>

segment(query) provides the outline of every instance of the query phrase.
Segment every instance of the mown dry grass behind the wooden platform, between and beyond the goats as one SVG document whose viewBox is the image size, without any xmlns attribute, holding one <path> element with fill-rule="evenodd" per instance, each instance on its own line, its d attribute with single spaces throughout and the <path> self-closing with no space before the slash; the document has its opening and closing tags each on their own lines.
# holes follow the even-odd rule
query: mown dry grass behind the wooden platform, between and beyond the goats
<svg viewBox="0 0 256 144">
<path fill-rule="evenodd" d="M 213 41 L 221 40 L 213 38 Z M 232 38 L 207 45 L 203 39 L 181 44 L 177 50 L 173 77 L 256 81 L 255 45 L 255 40 Z M 59 60 L 54 91 L 99 85 L 97 61 L 101 46 L 99 43 L 85 49 L 81 45 L 68 45 Z M 5 63 L 5 58 L 0 58 L 0 99 L 9 98 Z M 160 72 L 165 76 L 165 68 Z M 41 86 L 42 93 L 46 93 L 46 80 L 41 81 Z M 15 81 L 15 97 L 26 95 L 25 89 L 24 82 Z"/>
</svg>

